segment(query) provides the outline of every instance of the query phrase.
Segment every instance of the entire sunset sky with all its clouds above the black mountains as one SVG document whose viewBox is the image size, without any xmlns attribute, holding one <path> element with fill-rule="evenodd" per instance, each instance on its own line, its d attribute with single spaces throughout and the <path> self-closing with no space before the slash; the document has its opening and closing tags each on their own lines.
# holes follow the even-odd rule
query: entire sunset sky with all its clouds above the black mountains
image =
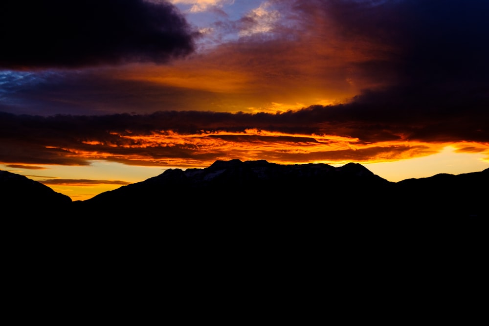
<svg viewBox="0 0 489 326">
<path fill-rule="evenodd" d="M 85 200 L 216 160 L 489 167 L 487 0 L 0 4 L 0 170 Z"/>
</svg>

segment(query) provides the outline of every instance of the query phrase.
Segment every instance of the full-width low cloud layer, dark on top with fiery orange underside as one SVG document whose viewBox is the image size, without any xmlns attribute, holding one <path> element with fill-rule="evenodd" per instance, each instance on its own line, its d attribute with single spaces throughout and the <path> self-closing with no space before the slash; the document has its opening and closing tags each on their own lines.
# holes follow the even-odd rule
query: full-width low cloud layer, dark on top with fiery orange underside
<svg viewBox="0 0 489 326">
<path fill-rule="evenodd" d="M 458 143 L 488 153 L 487 111 L 463 116 L 388 113 L 352 103 L 284 113 L 162 111 L 52 117 L 1 114 L 0 162 L 205 166 L 217 159 L 373 162 L 422 156 Z M 380 110 L 380 111 L 379 111 Z M 475 116 L 475 115 L 478 116 Z M 477 119 L 478 117 L 478 119 Z M 401 122 L 402 121 L 402 122 Z"/>
</svg>

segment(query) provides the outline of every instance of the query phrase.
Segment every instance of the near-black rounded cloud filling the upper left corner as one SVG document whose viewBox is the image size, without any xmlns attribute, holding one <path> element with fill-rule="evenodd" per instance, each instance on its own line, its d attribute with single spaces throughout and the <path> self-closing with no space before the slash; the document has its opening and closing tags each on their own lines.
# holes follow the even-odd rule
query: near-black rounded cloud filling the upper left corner
<svg viewBox="0 0 489 326">
<path fill-rule="evenodd" d="M 192 52 L 192 33 L 170 3 L 2 1 L 0 67 L 161 63 Z"/>
</svg>

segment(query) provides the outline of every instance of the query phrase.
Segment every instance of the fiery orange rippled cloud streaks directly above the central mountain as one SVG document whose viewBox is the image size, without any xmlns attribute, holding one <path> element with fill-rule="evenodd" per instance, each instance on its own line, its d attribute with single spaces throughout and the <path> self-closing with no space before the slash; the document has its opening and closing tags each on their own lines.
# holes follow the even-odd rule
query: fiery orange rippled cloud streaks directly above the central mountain
<svg viewBox="0 0 489 326">
<path fill-rule="evenodd" d="M 261 129 L 243 132 L 205 131 L 179 134 L 112 133 L 114 143 L 90 143 L 83 148 L 63 148 L 74 157 L 109 160 L 129 165 L 207 166 L 217 159 L 267 159 L 275 163 L 386 162 L 441 151 L 446 144 L 405 140 L 365 143 L 337 135 L 290 134 Z"/>
</svg>

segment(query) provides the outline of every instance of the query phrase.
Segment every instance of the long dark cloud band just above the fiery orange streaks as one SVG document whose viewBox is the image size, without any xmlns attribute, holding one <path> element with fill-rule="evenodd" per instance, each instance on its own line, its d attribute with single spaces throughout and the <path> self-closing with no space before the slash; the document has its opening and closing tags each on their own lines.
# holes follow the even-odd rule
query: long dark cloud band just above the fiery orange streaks
<svg viewBox="0 0 489 326">
<path fill-rule="evenodd" d="M 396 107 L 394 103 L 378 106 L 357 103 L 323 107 L 312 106 L 284 113 L 226 113 L 210 111 L 159 111 L 152 114 L 112 114 L 100 116 L 55 115 L 50 117 L 0 113 L 0 138 L 11 142 L 53 141 L 65 147 L 71 143 L 96 140 L 117 144 L 121 135 L 202 134 L 237 142 L 263 141 L 267 137 L 246 135 L 258 129 L 297 137 L 274 136 L 283 142 L 314 142 L 304 135 L 337 135 L 358 138 L 360 142 L 391 140 L 420 141 L 489 141 L 487 110 L 489 102 L 465 109 L 467 116 L 447 114 L 441 118 L 436 110 Z M 446 107 L 456 111 L 458 106 Z M 389 112 L 392 112 L 389 114 Z M 242 132 L 237 135 L 212 135 L 212 132 Z M 5 142 L 4 142 L 5 143 Z M 48 145 L 48 144 L 46 144 Z M 123 143 L 121 143 L 123 145 Z"/>
</svg>

